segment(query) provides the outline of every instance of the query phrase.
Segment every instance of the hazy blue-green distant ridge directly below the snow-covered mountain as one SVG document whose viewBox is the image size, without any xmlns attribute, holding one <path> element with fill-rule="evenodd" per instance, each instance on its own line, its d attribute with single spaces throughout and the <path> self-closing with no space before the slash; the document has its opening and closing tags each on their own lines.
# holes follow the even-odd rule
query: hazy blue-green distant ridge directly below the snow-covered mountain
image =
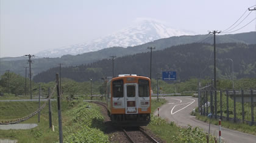
<svg viewBox="0 0 256 143">
<path fill-rule="evenodd" d="M 217 35 L 216 43 L 227 42 L 241 42 L 245 44 L 256 44 L 256 32 L 239 33 L 235 35 Z M 134 47 L 112 47 L 99 50 L 98 52 L 83 53 L 80 55 L 72 56 L 65 55 L 61 58 L 32 58 L 34 64 L 32 64 L 32 75 L 35 76 L 38 73 L 48 70 L 49 68 L 57 67 L 59 63 L 62 63 L 63 67 L 75 66 L 81 64 L 89 64 L 91 62 L 99 61 L 101 59 L 109 58 L 110 56 L 127 56 L 136 53 L 148 52 L 148 47 L 155 47 L 156 50 L 163 50 L 165 48 L 172 47 L 173 45 L 190 44 L 193 42 L 198 43 L 213 43 L 213 35 L 195 35 L 195 36 L 174 36 L 171 38 L 158 39 L 143 45 L 137 45 Z M 21 55 L 22 56 L 22 55 Z M 37 57 L 37 55 L 35 55 Z M 20 58 L 17 58 L 20 59 Z M 18 73 L 20 75 L 25 74 L 24 67 L 27 67 L 27 58 L 16 61 L 6 61 L 7 59 L 0 59 L 0 75 L 6 70 Z M 10 60 L 10 59 L 9 59 Z M 13 60 L 13 59 L 12 59 Z"/>
</svg>

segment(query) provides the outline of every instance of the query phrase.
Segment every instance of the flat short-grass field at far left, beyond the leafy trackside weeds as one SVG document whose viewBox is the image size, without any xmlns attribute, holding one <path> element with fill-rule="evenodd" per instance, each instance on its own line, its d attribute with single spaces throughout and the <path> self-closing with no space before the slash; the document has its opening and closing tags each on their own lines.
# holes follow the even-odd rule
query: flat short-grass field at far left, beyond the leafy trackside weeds
<svg viewBox="0 0 256 143">
<path fill-rule="evenodd" d="M 69 105 L 66 102 L 62 103 L 63 115 Z M 29 115 L 38 108 L 38 102 L 1 102 L 0 103 L 0 119 L 16 119 Z M 48 106 L 46 106 L 40 114 L 40 122 L 38 116 L 24 121 L 22 123 L 35 123 L 38 127 L 29 130 L 0 130 L 1 139 L 17 139 L 19 142 L 56 142 L 58 141 L 59 132 L 57 115 L 57 102 L 52 102 L 52 124 L 55 126 L 55 131 L 51 131 L 48 121 Z M 66 117 L 63 116 L 63 122 Z"/>
</svg>

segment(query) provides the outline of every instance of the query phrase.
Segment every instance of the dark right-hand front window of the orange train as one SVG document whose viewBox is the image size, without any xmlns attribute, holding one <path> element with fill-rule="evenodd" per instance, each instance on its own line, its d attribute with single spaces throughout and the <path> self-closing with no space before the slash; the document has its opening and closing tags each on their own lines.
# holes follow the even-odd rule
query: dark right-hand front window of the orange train
<svg viewBox="0 0 256 143">
<path fill-rule="evenodd" d="M 138 82 L 139 97 L 149 97 L 149 81 L 146 79 L 139 79 Z"/>
</svg>

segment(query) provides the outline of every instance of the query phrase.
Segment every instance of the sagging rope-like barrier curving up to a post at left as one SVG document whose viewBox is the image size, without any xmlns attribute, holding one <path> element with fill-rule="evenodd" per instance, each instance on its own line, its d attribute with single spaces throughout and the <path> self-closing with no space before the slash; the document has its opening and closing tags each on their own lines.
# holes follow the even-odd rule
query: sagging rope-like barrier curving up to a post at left
<svg viewBox="0 0 256 143">
<path fill-rule="evenodd" d="M 49 95 L 49 97 L 47 98 L 48 100 L 52 98 L 52 95 L 54 94 L 55 88 L 57 87 L 57 85 L 55 84 L 52 93 Z M 46 100 L 47 101 L 47 100 Z M 44 102 L 43 105 L 41 105 L 37 110 L 35 110 L 33 113 L 31 113 L 30 115 L 24 116 L 23 118 L 18 118 L 18 119 L 11 119 L 11 120 L 0 120 L 0 125 L 9 125 L 9 124 L 18 124 L 20 122 L 26 121 L 29 118 L 32 118 L 32 116 L 37 115 L 37 113 L 41 110 L 43 110 L 43 108 L 46 106 L 47 102 Z"/>
</svg>

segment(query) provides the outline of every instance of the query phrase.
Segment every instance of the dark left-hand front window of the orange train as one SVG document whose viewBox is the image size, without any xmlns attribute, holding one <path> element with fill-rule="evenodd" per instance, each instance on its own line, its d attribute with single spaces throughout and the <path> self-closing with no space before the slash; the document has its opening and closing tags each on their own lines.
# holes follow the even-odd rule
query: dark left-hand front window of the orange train
<svg viewBox="0 0 256 143">
<path fill-rule="evenodd" d="M 113 81 L 113 97 L 114 98 L 123 98 L 124 97 L 123 79 Z"/>
</svg>

